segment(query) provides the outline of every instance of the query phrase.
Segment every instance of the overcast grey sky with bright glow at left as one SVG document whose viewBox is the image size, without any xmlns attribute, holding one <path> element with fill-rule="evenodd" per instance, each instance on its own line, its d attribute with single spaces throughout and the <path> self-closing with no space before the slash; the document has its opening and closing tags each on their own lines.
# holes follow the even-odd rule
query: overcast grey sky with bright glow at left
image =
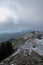
<svg viewBox="0 0 43 65">
<path fill-rule="evenodd" d="M 0 0 L 0 32 L 43 31 L 43 0 Z"/>
</svg>

